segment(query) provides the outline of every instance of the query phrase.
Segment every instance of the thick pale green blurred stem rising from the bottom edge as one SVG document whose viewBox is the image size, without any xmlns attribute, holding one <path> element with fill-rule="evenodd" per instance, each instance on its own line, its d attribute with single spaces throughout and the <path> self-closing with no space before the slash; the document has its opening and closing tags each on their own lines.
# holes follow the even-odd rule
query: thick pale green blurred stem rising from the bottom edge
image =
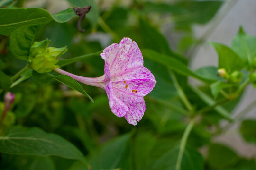
<svg viewBox="0 0 256 170">
<path fill-rule="evenodd" d="M 177 162 L 176 162 L 175 170 L 180 170 L 181 169 L 181 163 L 182 163 L 183 153 L 184 153 L 184 150 L 185 150 L 187 139 L 188 139 L 188 136 L 189 136 L 194 124 L 195 124 L 194 119 L 191 119 L 188 126 L 186 127 L 184 133 L 183 133 L 182 141 L 181 141 L 181 145 L 180 145 L 180 151 L 179 151 L 179 154 L 178 154 L 178 159 L 177 159 Z"/>
</svg>

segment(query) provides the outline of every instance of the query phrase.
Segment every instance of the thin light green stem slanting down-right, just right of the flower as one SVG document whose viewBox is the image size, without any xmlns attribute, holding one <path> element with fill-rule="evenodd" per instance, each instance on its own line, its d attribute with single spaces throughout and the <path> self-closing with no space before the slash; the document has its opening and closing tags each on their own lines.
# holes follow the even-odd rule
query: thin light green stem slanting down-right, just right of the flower
<svg viewBox="0 0 256 170">
<path fill-rule="evenodd" d="M 179 82 L 177 81 L 176 76 L 174 75 L 174 72 L 173 72 L 172 70 L 170 70 L 170 71 L 169 71 L 169 74 L 170 74 L 170 76 L 171 76 L 171 78 L 172 78 L 172 80 L 173 80 L 174 86 L 175 86 L 175 88 L 177 89 L 178 94 L 179 94 L 179 96 L 180 96 L 182 102 L 183 102 L 184 105 L 187 107 L 187 109 L 192 112 L 192 111 L 193 111 L 193 107 L 192 107 L 191 103 L 189 102 L 187 96 L 186 96 L 185 93 L 183 92 L 183 89 L 182 89 L 181 86 L 179 85 Z"/>
</svg>

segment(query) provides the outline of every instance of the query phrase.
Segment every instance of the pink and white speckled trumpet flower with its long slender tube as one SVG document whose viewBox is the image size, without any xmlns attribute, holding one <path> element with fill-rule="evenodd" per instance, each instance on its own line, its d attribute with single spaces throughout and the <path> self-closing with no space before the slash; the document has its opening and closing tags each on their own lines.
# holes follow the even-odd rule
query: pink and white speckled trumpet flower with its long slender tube
<svg viewBox="0 0 256 170">
<path fill-rule="evenodd" d="M 119 44 L 108 46 L 101 57 L 105 60 L 105 74 L 97 78 L 73 75 L 59 68 L 55 71 L 84 84 L 105 89 L 111 111 L 136 125 L 146 109 L 143 96 L 155 87 L 155 77 L 143 66 L 141 51 L 130 38 L 123 38 Z"/>
</svg>

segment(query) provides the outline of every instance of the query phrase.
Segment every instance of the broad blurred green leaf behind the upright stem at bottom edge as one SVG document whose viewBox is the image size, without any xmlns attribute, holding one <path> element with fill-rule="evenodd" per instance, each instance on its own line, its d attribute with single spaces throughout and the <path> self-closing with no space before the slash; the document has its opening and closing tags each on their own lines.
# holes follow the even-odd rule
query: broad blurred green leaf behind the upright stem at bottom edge
<svg viewBox="0 0 256 170">
<path fill-rule="evenodd" d="M 137 170 L 175 170 L 179 144 L 172 139 L 158 139 L 148 132 L 135 138 L 134 161 Z M 181 170 L 202 170 L 203 158 L 193 148 L 185 148 Z"/>
</svg>

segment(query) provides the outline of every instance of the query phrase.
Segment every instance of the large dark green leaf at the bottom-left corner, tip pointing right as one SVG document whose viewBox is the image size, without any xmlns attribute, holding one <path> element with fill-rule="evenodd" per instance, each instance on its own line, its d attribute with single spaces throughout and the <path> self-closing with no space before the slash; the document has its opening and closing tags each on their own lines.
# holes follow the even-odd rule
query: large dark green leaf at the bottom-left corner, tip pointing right
<svg viewBox="0 0 256 170">
<path fill-rule="evenodd" d="M 4 136 L 0 136 L 0 152 L 8 154 L 60 156 L 66 159 L 80 160 L 86 163 L 82 153 L 61 136 L 46 133 L 32 127 L 9 127 Z"/>
</svg>

